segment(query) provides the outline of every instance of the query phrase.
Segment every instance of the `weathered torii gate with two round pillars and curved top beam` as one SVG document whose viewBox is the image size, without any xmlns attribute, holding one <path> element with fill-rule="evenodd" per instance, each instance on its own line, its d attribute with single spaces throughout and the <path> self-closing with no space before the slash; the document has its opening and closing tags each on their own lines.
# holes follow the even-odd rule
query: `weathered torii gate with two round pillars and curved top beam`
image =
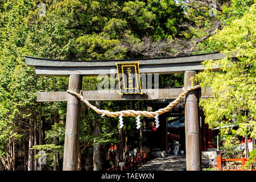
<svg viewBox="0 0 256 182">
<path fill-rule="evenodd" d="M 169 57 L 158 59 L 136 59 L 139 61 L 140 73 L 184 73 L 184 88 L 191 88 L 189 79 L 197 72 L 203 71 L 202 61 L 224 58 L 221 53 L 207 53 L 201 55 Z M 39 76 L 69 76 L 68 90 L 80 93 L 82 89 L 82 76 L 97 76 L 100 74 L 117 74 L 115 62 L 129 63 L 130 60 L 52 60 L 25 56 L 26 64 L 34 67 Z M 193 85 L 196 85 L 195 83 Z M 201 90 L 201 89 L 200 89 Z M 97 93 L 96 93 L 97 92 Z M 176 89 L 144 89 L 141 94 L 119 95 L 119 90 L 83 91 L 82 95 L 88 101 L 117 101 L 117 100 L 161 100 L 175 99 L 182 93 L 181 88 Z M 190 91 L 185 96 L 185 142 L 187 171 L 201 170 L 201 137 L 199 121 L 199 98 L 212 97 L 210 89 L 207 92 L 199 89 Z M 67 119 L 64 143 L 64 171 L 76 171 L 79 154 L 80 133 L 80 100 L 67 92 L 38 92 L 38 102 L 67 101 Z"/>
</svg>

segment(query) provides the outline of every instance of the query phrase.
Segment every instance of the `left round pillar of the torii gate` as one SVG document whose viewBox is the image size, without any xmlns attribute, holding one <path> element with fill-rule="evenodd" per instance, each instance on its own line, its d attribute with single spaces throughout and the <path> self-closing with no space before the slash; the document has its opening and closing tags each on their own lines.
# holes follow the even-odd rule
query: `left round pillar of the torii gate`
<svg viewBox="0 0 256 182">
<path fill-rule="evenodd" d="M 82 76 L 70 75 L 68 89 L 80 93 Z M 65 128 L 65 143 L 63 156 L 63 171 L 77 171 L 80 133 L 80 100 L 68 93 L 67 119 Z"/>
</svg>

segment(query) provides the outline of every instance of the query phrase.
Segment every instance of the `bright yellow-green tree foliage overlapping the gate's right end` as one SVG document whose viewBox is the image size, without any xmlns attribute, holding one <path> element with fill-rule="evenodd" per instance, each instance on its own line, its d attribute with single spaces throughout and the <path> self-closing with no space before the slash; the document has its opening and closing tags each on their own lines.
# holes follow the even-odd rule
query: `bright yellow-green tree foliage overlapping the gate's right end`
<svg viewBox="0 0 256 182">
<path fill-rule="evenodd" d="M 204 61 L 204 72 L 197 74 L 197 80 L 204 88 L 213 88 L 214 98 L 201 100 L 210 127 L 237 124 L 233 133 L 250 137 L 256 134 L 256 90 L 255 90 L 255 36 L 256 8 L 251 5 L 241 19 L 233 20 L 228 27 L 210 38 L 210 43 L 227 55 L 221 60 Z M 232 57 L 236 55 L 236 59 Z M 214 68 L 218 66 L 219 71 Z M 228 134 L 228 128 L 222 133 Z"/>
</svg>

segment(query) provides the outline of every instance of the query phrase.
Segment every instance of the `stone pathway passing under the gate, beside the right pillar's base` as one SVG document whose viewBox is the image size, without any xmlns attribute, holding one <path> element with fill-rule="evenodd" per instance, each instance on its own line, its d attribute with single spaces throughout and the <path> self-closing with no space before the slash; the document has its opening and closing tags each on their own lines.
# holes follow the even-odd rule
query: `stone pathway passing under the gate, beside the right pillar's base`
<svg viewBox="0 0 256 182">
<path fill-rule="evenodd" d="M 152 159 L 139 167 L 137 171 L 184 171 L 185 168 L 185 155 L 170 155 L 167 158 Z"/>
</svg>

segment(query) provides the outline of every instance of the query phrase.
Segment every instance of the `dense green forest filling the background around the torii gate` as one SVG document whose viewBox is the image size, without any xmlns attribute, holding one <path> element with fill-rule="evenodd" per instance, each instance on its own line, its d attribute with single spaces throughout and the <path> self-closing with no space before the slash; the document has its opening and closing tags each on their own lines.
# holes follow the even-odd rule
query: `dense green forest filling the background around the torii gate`
<svg viewBox="0 0 256 182">
<path fill-rule="evenodd" d="M 102 60 L 184 56 L 221 51 L 197 75 L 214 98 L 201 100 L 210 127 L 236 123 L 223 135 L 255 137 L 254 0 L 1 0 L 0 1 L 0 163 L 2 170 L 61 170 L 67 103 L 36 102 L 37 92 L 65 91 L 67 77 L 39 77 L 24 55 L 49 59 Z M 231 57 L 236 55 L 237 59 Z M 218 64 L 220 72 L 213 72 Z M 230 67 L 232 65 L 232 67 Z M 183 85 L 183 74 L 159 77 L 161 88 Z M 97 77 L 84 77 L 83 90 L 96 90 Z M 222 91 L 225 90 L 223 93 Z M 94 102 L 101 109 L 146 110 L 143 101 Z M 82 105 L 79 169 L 101 170 L 109 144 L 123 146 L 135 129 L 133 118 L 100 118 Z M 236 119 L 234 119 L 236 118 Z M 138 141 L 135 145 L 139 146 Z M 96 154 L 95 148 L 101 148 Z M 47 163 L 38 165 L 38 151 Z M 94 156 L 94 158 L 93 158 Z M 255 152 L 251 153 L 255 158 Z"/>
</svg>

